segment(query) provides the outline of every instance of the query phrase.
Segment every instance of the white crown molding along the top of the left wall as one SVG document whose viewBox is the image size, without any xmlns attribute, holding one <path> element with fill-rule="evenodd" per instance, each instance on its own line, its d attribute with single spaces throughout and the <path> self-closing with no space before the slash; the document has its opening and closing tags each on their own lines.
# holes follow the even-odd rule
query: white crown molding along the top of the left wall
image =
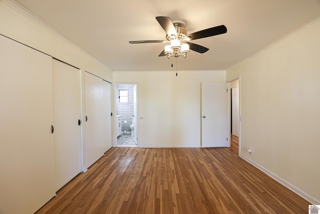
<svg viewBox="0 0 320 214">
<path fill-rule="evenodd" d="M 35 16 L 34 14 L 32 14 L 30 11 L 28 11 L 27 9 L 23 8 L 23 6 L 21 6 L 20 4 L 18 4 L 17 2 L 13 1 L 13 0 L 1 0 L 4 4 L 6 4 L 7 6 L 9 6 L 10 8 L 12 8 L 13 10 L 15 10 L 16 12 L 18 12 L 19 14 L 23 15 L 24 17 L 26 17 L 27 19 L 31 20 L 32 22 L 38 24 L 40 27 L 42 27 L 43 29 L 45 29 L 46 31 L 50 32 L 51 34 L 53 34 L 55 37 L 57 37 L 58 39 L 62 40 L 63 42 L 65 42 L 66 44 L 72 46 L 73 48 L 75 48 L 76 50 L 78 50 L 79 52 L 83 53 L 85 56 L 91 58 L 92 60 L 96 61 L 97 63 L 101 64 L 102 66 L 104 66 L 105 68 L 107 68 L 108 70 L 112 71 L 110 68 L 108 68 L 105 64 L 101 63 L 100 61 L 98 61 L 97 59 L 95 59 L 94 57 L 92 57 L 89 53 L 87 53 L 86 51 L 84 51 L 83 49 L 81 49 L 79 46 L 77 46 L 76 44 L 74 44 L 72 41 L 70 41 L 69 39 L 67 39 L 66 37 L 64 37 L 62 34 L 60 34 L 58 31 L 56 31 L 54 28 L 52 28 L 51 26 L 49 26 L 48 24 L 46 24 L 45 22 L 43 22 L 40 18 L 38 18 L 37 16 Z"/>
</svg>

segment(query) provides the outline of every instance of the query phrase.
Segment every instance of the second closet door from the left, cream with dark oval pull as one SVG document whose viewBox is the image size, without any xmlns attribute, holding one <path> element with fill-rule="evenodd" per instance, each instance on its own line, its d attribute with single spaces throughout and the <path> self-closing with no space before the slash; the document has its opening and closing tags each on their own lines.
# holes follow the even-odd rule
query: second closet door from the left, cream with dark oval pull
<svg viewBox="0 0 320 214">
<path fill-rule="evenodd" d="M 53 59 L 55 190 L 82 169 L 80 70 Z"/>
</svg>

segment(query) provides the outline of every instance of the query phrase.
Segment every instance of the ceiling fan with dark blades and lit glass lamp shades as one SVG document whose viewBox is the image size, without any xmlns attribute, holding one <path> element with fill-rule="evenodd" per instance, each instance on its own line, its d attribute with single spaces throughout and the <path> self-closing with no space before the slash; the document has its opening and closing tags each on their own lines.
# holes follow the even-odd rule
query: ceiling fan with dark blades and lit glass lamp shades
<svg viewBox="0 0 320 214">
<path fill-rule="evenodd" d="M 186 30 L 184 29 L 185 24 L 183 22 L 173 23 L 169 17 L 155 17 L 155 19 L 165 31 L 166 40 L 129 41 L 129 43 L 170 43 L 170 45 L 166 45 L 164 50 L 159 54 L 159 57 L 167 56 L 168 59 L 170 59 L 170 57 L 177 58 L 179 56 L 183 56 L 185 59 L 190 50 L 203 54 L 209 49 L 188 41 L 226 33 L 226 27 L 224 25 L 220 25 L 192 34 L 187 34 Z M 178 51 L 180 51 L 180 53 Z"/>
</svg>

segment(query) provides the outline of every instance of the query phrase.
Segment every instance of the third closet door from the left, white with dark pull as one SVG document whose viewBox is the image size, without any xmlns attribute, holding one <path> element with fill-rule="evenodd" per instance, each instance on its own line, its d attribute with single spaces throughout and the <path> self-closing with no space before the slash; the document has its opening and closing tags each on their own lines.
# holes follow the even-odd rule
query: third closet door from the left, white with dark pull
<svg viewBox="0 0 320 214">
<path fill-rule="evenodd" d="M 86 166 L 103 155 L 103 88 L 102 79 L 85 72 L 85 143 Z"/>
</svg>

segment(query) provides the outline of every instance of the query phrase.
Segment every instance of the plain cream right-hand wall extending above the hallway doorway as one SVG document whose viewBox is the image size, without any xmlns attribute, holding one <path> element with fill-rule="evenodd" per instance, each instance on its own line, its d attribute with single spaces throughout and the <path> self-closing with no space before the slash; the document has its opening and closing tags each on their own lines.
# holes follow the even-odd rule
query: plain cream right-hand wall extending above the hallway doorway
<svg viewBox="0 0 320 214">
<path fill-rule="evenodd" d="M 319 38 L 317 21 L 226 71 L 227 81 L 240 75 L 241 155 L 314 204 L 320 203 Z"/>
</svg>

